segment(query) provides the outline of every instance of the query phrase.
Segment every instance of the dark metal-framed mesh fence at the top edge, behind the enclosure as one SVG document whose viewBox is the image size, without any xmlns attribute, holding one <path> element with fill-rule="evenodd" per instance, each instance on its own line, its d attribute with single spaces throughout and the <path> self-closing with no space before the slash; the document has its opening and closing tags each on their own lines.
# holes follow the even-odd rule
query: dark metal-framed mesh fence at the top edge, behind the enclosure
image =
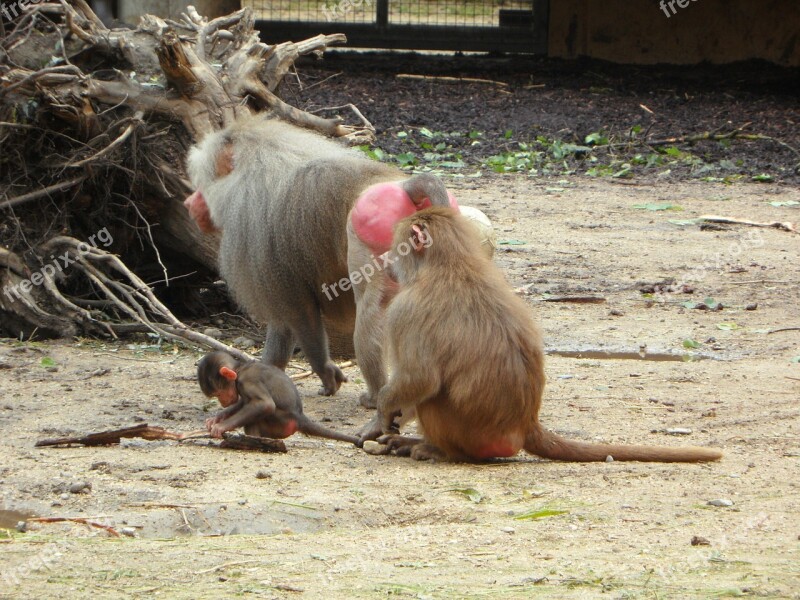
<svg viewBox="0 0 800 600">
<path fill-rule="evenodd" d="M 270 43 L 345 33 L 351 47 L 545 53 L 549 0 L 243 0 Z"/>
</svg>

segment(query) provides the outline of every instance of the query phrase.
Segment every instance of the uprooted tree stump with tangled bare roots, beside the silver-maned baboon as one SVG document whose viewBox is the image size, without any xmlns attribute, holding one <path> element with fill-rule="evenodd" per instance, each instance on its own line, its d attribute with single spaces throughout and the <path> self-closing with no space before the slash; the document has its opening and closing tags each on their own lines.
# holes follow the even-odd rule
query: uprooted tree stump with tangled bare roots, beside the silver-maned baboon
<svg viewBox="0 0 800 600">
<path fill-rule="evenodd" d="M 0 38 L 0 333 L 145 331 L 220 347 L 185 315 L 226 302 L 218 239 L 182 206 L 189 146 L 238 117 L 278 118 L 351 143 L 373 139 L 279 97 L 303 55 L 344 35 L 259 41 L 249 9 L 211 21 L 151 15 L 108 29 L 84 0 L 30 4 Z M 43 66 L 44 65 L 44 66 Z M 112 254 L 113 252 L 113 254 Z"/>
</svg>

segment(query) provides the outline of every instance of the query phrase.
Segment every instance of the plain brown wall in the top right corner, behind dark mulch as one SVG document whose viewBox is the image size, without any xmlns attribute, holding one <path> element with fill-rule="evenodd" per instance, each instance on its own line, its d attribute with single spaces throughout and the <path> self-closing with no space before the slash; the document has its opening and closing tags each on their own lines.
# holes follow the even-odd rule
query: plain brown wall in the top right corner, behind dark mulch
<svg viewBox="0 0 800 600">
<path fill-rule="evenodd" d="M 798 0 L 551 0 L 549 54 L 621 63 L 800 66 Z M 685 5 L 681 8 L 678 4 Z"/>
</svg>

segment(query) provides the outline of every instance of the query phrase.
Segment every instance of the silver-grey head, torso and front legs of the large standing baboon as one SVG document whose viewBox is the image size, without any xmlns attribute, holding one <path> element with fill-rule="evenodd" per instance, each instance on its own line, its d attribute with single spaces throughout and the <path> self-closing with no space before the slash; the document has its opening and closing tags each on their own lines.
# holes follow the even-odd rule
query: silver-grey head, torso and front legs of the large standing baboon
<svg viewBox="0 0 800 600">
<path fill-rule="evenodd" d="M 438 186 L 426 190 L 438 179 L 407 178 L 259 116 L 207 136 L 190 151 L 188 171 L 196 191 L 184 205 L 203 231 L 222 231 L 220 273 L 242 308 L 267 324 L 263 361 L 285 369 L 297 342 L 320 393 L 335 394 L 346 377 L 330 360 L 324 323 L 352 332 L 355 304 L 349 285 L 336 295 L 324 290 L 347 281 L 348 213 L 375 184 L 433 198 Z"/>
</svg>

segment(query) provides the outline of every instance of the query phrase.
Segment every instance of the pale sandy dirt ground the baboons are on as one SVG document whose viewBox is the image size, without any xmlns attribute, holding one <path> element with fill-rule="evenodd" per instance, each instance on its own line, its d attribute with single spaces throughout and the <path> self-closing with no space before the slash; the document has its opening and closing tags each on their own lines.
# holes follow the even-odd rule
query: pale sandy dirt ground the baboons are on
<svg viewBox="0 0 800 600">
<path fill-rule="evenodd" d="M 523 176 L 454 187 L 492 218 L 496 262 L 544 329 L 544 424 L 584 441 L 719 447 L 721 462 L 428 464 L 300 435 L 286 454 L 37 449 L 140 422 L 198 429 L 214 410 L 194 382 L 199 352 L 4 340 L 0 597 L 800 598 L 800 236 L 686 222 L 797 222 L 786 203 L 800 192 Z M 694 293 L 642 292 L 667 278 Z M 724 309 L 684 305 L 707 297 Z M 353 431 L 370 414 L 357 367 L 347 374 L 332 399 L 313 378 L 299 387 L 308 414 Z M 133 537 L 77 523 L 18 532 L 25 514 Z"/>
</svg>

